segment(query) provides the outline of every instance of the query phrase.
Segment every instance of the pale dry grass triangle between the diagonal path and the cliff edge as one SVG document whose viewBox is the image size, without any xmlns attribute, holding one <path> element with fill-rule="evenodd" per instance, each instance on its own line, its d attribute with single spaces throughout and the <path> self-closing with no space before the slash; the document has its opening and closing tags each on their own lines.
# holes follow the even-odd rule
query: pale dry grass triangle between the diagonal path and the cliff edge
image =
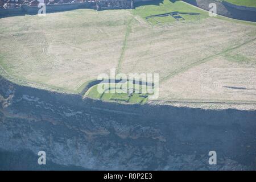
<svg viewBox="0 0 256 182">
<path fill-rule="evenodd" d="M 236 63 L 217 56 L 160 84 L 159 100 L 256 102 L 255 78 L 255 64 Z"/>
</svg>

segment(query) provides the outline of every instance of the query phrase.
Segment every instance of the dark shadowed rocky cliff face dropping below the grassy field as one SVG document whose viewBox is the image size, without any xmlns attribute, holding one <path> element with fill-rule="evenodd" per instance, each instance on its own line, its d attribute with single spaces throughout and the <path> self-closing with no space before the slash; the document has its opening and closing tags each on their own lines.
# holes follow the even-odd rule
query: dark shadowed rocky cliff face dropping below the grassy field
<svg viewBox="0 0 256 182">
<path fill-rule="evenodd" d="M 255 111 L 120 105 L 3 78 L 0 106 L 2 168 L 40 169 L 43 150 L 48 169 L 256 169 Z"/>
</svg>

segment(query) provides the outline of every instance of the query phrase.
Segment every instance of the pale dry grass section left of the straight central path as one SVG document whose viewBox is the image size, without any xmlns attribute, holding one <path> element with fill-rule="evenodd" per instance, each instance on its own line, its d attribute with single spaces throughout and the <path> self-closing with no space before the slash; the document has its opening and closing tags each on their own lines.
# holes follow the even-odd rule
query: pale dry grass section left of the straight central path
<svg viewBox="0 0 256 182">
<path fill-rule="evenodd" d="M 118 64 L 129 11 L 69 11 L 0 19 L 3 67 L 11 76 L 76 90 Z"/>
</svg>

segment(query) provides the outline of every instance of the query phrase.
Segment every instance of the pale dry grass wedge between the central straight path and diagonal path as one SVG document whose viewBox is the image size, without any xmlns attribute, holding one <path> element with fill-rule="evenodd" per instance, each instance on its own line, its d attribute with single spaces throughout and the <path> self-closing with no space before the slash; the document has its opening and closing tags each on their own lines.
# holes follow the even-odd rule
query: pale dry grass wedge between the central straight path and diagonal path
<svg viewBox="0 0 256 182">
<path fill-rule="evenodd" d="M 255 27 L 210 18 L 152 28 L 134 22 L 121 71 L 168 79 L 172 72 L 255 38 L 252 32 Z"/>
</svg>

